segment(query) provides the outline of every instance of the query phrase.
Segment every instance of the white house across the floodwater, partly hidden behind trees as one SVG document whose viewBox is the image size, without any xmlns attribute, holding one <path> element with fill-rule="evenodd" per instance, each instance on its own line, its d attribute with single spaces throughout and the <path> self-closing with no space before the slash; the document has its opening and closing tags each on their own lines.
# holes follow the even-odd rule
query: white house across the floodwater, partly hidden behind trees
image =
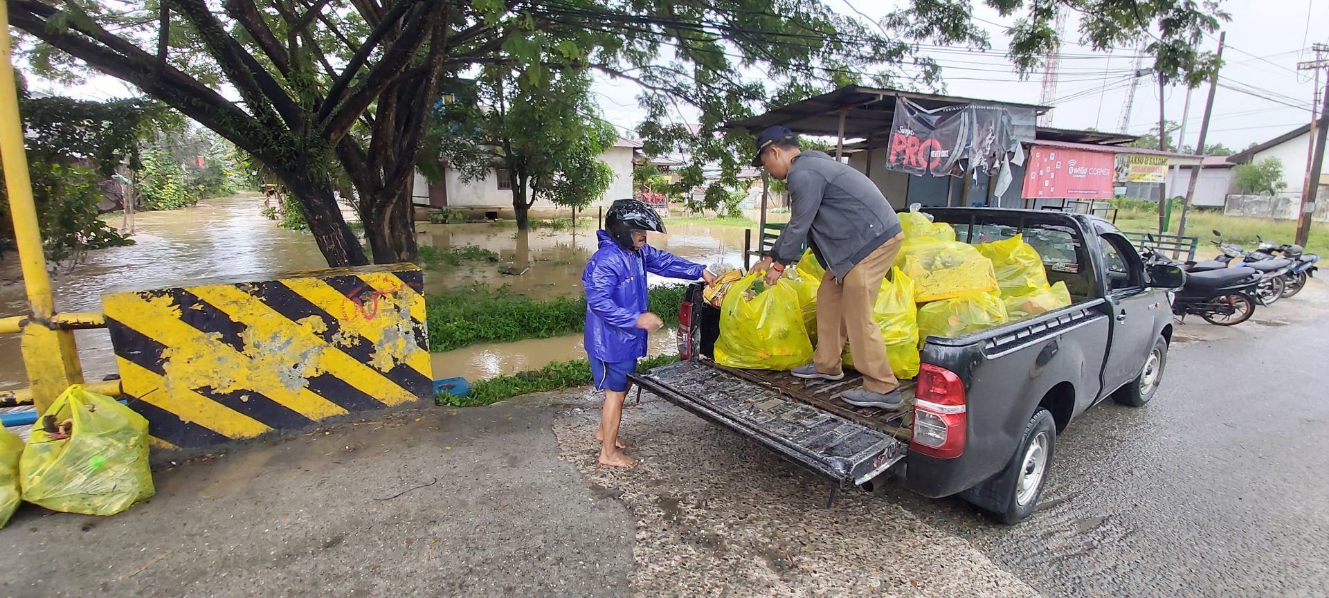
<svg viewBox="0 0 1329 598">
<path fill-rule="evenodd" d="M 609 189 L 591 206 L 609 206 L 614 199 L 633 197 L 633 153 L 642 142 L 619 137 L 599 159 L 614 171 Z M 494 213 L 498 218 L 512 218 L 512 179 L 504 169 L 494 169 L 490 175 L 470 182 L 462 182 L 461 174 L 448 169 L 447 178 L 431 185 L 417 170 L 412 186 L 412 203 L 417 207 L 451 207 L 453 210 Z M 533 217 L 566 217 L 567 209 L 554 206 L 546 199 L 530 207 Z"/>
</svg>

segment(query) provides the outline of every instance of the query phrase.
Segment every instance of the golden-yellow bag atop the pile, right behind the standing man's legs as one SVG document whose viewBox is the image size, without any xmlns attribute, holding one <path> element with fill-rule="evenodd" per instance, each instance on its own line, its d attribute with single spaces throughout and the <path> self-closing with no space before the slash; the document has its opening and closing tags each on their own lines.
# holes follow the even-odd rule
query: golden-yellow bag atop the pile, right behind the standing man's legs
<svg viewBox="0 0 1329 598">
<path fill-rule="evenodd" d="M 914 282 L 918 303 L 998 288 L 993 262 L 956 241 L 905 241 L 896 263 Z"/>
</svg>

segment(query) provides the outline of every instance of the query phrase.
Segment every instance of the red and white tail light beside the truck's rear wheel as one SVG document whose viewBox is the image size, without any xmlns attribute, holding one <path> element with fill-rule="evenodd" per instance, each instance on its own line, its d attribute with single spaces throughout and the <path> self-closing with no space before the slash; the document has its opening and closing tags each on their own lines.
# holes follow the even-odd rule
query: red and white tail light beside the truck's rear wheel
<svg viewBox="0 0 1329 598">
<path fill-rule="evenodd" d="M 913 441 L 909 449 L 938 458 L 958 457 L 965 452 L 968 421 L 965 383 L 956 372 L 922 364 L 914 392 Z"/>
</svg>

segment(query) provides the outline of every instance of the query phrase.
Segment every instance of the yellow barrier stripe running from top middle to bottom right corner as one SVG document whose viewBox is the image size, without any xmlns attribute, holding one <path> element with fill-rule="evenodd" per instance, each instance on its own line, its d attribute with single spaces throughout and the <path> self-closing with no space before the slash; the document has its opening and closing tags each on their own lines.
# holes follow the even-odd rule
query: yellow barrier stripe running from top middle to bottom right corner
<svg viewBox="0 0 1329 598">
<path fill-rule="evenodd" d="M 388 405 L 396 405 L 417 399 L 405 388 L 401 388 L 392 380 L 384 377 L 383 372 L 360 363 L 336 347 L 328 347 L 324 344 L 323 339 L 316 336 L 310 328 L 322 324 L 322 320 L 304 323 L 291 322 L 280 312 L 259 300 L 256 296 L 229 284 L 191 287 L 190 292 L 197 295 L 199 299 L 211 303 L 213 307 L 231 316 L 233 320 L 243 322 L 249 326 L 249 328 L 245 330 L 246 340 L 250 340 L 251 338 L 283 339 L 284 342 L 295 343 L 299 347 L 323 347 L 323 351 L 319 352 L 320 361 L 316 367 L 332 373 L 347 384 L 359 388 L 360 392 L 364 392 L 365 395 L 369 395 Z M 310 318 L 316 319 L 315 316 Z"/>
</svg>

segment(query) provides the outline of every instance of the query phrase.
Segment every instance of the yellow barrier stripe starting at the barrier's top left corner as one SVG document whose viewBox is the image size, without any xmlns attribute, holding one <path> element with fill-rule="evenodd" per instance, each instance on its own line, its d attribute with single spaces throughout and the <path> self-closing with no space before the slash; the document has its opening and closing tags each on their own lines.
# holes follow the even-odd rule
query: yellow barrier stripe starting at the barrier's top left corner
<svg viewBox="0 0 1329 598">
<path fill-rule="evenodd" d="M 169 347 L 171 363 L 167 367 L 182 369 L 181 372 L 167 372 L 174 380 L 178 381 L 183 376 L 185 379 L 195 377 L 198 381 L 211 379 L 229 381 L 234 388 L 260 392 L 311 420 L 347 413 L 342 405 L 323 399 L 308 388 L 302 387 L 294 391 L 287 388 L 287 381 L 276 375 L 276 369 L 290 369 L 291 365 L 299 365 L 295 363 L 299 360 L 296 352 L 274 352 L 264 359 L 255 360 L 222 343 L 214 335 L 203 334 L 177 319 L 178 310 L 171 311 L 170 299 L 165 298 L 165 302 L 161 299 L 163 298 L 144 300 L 136 294 L 125 292 L 114 296 L 108 295 L 104 300 L 108 302 L 106 311 L 113 314 L 117 322 Z M 280 320 L 290 322 L 286 318 L 280 318 Z M 268 336 L 251 336 L 253 323 L 245 322 L 245 324 L 250 326 L 245 331 L 246 343 L 271 340 Z M 185 368 L 193 368 L 193 372 Z M 218 392 L 227 392 L 229 388 L 225 385 L 211 384 Z M 177 383 L 171 391 L 179 392 L 179 387 Z M 165 409 L 165 407 L 162 408 Z"/>
</svg>

